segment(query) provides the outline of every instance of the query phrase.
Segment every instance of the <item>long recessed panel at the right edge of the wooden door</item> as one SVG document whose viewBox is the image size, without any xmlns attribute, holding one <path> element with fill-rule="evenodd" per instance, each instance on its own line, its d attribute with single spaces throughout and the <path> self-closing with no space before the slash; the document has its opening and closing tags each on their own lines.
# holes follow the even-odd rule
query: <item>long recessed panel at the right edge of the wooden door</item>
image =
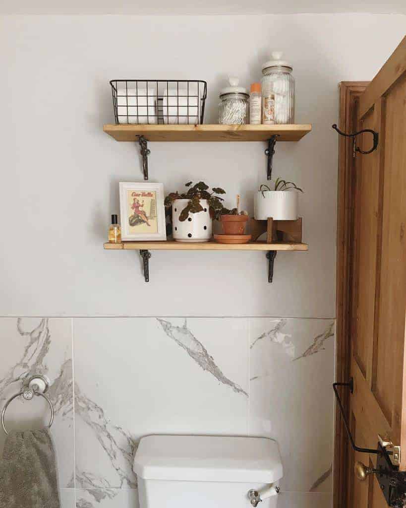
<svg viewBox="0 0 406 508">
<path fill-rule="evenodd" d="M 373 389 L 391 411 L 394 439 L 401 441 L 404 323 L 406 308 L 406 73 L 384 102 L 384 199 L 378 310 L 376 379 Z M 406 450 L 405 450 L 406 454 Z M 406 457 L 405 457 L 406 458 Z"/>
</svg>

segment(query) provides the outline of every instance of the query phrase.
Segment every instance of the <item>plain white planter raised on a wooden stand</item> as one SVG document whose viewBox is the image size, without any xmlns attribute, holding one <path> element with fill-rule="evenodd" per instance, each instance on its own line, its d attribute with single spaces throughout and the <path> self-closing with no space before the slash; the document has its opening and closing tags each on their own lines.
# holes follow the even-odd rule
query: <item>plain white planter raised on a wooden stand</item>
<svg viewBox="0 0 406 508">
<path fill-rule="evenodd" d="M 257 220 L 273 217 L 275 220 L 297 219 L 297 192 L 295 190 L 259 190 L 255 196 L 254 215 Z"/>
</svg>

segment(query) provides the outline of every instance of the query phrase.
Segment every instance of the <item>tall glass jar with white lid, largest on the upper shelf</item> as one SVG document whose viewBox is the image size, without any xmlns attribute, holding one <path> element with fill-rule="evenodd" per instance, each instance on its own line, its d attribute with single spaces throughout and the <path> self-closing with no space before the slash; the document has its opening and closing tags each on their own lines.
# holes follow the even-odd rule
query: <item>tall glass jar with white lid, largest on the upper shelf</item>
<svg viewBox="0 0 406 508">
<path fill-rule="evenodd" d="M 274 51 L 262 66 L 262 123 L 294 123 L 295 80 L 292 66 Z"/>
</svg>

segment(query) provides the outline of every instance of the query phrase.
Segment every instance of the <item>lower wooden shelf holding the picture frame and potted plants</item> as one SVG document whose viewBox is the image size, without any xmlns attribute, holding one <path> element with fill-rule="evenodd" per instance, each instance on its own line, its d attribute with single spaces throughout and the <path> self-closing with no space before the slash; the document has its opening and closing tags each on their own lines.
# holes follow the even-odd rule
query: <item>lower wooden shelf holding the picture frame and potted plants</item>
<svg viewBox="0 0 406 508">
<path fill-rule="evenodd" d="M 175 242 L 174 240 L 152 242 L 105 243 L 109 250 L 308 250 L 307 243 L 297 242 L 249 242 L 217 243 L 211 242 Z"/>
</svg>

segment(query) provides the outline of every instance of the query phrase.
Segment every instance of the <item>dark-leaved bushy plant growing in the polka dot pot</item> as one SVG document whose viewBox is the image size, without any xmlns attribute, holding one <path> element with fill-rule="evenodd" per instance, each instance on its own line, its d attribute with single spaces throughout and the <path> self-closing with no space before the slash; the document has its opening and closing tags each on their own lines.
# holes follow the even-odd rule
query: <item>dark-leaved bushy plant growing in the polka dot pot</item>
<svg viewBox="0 0 406 508">
<path fill-rule="evenodd" d="M 219 195 L 225 194 L 225 190 L 220 187 L 212 187 L 209 191 L 209 185 L 205 182 L 198 182 L 193 185 L 193 182 L 185 183 L 187 190 L 183 193 L 173 192 L 168 194 L 165 198 L 165 214 L 172 217 L 172 204 L 177 199 L 188 199 L 189 202 L 179 215 L 179 220 L 183 222 L 187 219 L 189 213 L 201 212 L 204 208 L 200 204 L 201 199 L 207 199 L 209 202 L 209 211 L 212 218 L 219 218 L 220 215 L 225 213 L 234 213 L 233 210 L 224 208 L 223 201 Z M 235 208 L 235 213 L 237 212 Z"/>
</svg>

